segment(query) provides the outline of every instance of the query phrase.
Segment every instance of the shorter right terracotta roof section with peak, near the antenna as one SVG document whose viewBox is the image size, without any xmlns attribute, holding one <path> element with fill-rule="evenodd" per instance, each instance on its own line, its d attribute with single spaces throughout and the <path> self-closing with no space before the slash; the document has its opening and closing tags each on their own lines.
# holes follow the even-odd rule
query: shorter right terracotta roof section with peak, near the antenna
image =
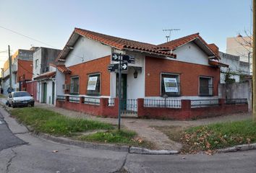
<svg viewBox="0 0 256 173">
<path fill-rule="evenodd" d="M 192 35 L 187 35 L 185 37 L 180 37 L 176 40 L 171 40 L 167 43 L 163 43 L 161 45 L 157 45 L 159 50 L 175 50 L 179 46 L 182 46 L 186 43 L 191 42 L 192 40 L 199 39 L 212 53 L 214 56 L 217 58 L 220 58 L 218 56 L 218 53 L 216 53 L 215 50 L 213 50 L 212 47 L 209 47 L 208 43 L 205 42 L 205 40 L 202 39 L 202 37 L 199 35 L 199 32 L 192 34 Z"/>
</svg>

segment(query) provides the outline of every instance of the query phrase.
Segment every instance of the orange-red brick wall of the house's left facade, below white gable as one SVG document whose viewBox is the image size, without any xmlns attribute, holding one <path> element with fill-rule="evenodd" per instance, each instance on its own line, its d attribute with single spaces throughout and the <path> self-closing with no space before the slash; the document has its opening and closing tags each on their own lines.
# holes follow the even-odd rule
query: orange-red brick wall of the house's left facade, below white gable
<svg viewBox="0 0 256 173">
<path fill-rule="evenodd" d="M 110 73 L 108 72 L 108 64 L 110 56 L 98 58 L 86 63 L 80 63 L 75 66 L 69 66 L 71 74 L 66 75 L 65 84 L 70 84 L 71 76 L 80 77 L 80 94 L 87 94 L 88 74 L 101 73 L 101 95 L 110 95 Z"/>
</svg>

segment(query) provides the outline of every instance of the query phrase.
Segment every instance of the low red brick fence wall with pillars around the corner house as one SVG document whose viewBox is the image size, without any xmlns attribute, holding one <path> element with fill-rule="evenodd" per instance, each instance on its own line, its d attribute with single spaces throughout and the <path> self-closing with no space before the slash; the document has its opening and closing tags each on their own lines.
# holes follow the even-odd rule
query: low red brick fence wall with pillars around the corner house
<svg viewBox="0 0 256 173">
<path fill-rule="evenodd" d="M 69 97 L 67 96 L 64 101 L 56 99 L 56 107 L 63 107 L 67 110 L 103 117 L 118 117 L 119 99 L 117 98 L 114 99 L 113 106 L 108 106 L 108 98 L 101 98 L 99 105 L 85 104 L 83 100 L 83 97 L 80 97 L 80 102 L 69 102 Z M 225 99 L 219 99 L 217 105 L 210 107 L 191 107 L 191 100 L 183 99 L 181 100 L 180 108 L 145 107 L 144 99 L 137 99 L 137 116 L 140 118 L 192 120 L 239 112 L 248 112 L 248 105 L 226 105 Z"/>
</svg>

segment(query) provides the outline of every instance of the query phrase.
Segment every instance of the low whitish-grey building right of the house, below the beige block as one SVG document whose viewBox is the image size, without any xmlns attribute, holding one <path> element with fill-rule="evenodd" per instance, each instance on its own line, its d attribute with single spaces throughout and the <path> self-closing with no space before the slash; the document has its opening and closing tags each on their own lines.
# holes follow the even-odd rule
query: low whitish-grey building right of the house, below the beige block
<svg viewBox="0 0 256 173">
<path fill-rule="evenodd" d="M 230 75 L 230 79 L 240 82 L 242 76 L 248 76 L 249 63 L 240 61 L 239 56 L 233 56 L 228 53 L 219 52 L 220 62 L 229 64 L 229 68 L 221 67 L 221 84 L 225 83 L 226 75 Z"/>
</svg>

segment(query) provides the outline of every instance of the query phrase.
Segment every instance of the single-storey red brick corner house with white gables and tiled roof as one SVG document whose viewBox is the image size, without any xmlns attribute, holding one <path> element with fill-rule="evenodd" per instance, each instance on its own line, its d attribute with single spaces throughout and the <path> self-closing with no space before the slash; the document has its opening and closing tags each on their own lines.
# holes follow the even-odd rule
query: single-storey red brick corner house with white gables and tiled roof
<svg viewBox="0 0 256 173">
<path fill-rule="evenodd" d="M 108 72 L 112 53 L 135 57 L 121 74 L 121 109 L 128 114 L 148 116 L 143 107 L 180 108 L 187 104 L 181 100 L 216 102 L 220 67 L 228 65 L 210 47 L 199 33 L 152 45 L 75 28 L 56 59 L 56 106 L 116 117 L 118 74 Z"/>
</svg>

